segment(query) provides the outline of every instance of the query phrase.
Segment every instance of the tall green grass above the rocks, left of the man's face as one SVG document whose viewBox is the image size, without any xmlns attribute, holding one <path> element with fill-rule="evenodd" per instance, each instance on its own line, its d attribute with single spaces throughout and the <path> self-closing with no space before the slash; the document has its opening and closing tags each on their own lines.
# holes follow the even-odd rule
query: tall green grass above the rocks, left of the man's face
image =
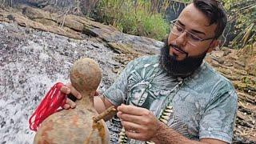
<svg viewBox="0 0 256 144">
<path fill-rule="evenodd" d="M 157 2 L 102 0 L 95 15 L 124 33 L 162 40 L 168 34 L 169 24 L 157 12 Z"/>
</svg>

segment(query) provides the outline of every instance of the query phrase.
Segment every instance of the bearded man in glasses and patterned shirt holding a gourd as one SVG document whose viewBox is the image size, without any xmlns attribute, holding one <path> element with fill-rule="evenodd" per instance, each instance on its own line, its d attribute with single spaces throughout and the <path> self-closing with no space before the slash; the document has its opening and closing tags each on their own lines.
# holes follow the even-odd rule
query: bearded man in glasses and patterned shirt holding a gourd
<svg viewBox="0 0 256 144">
<path fill-rule="evenodd" d="M 218 1 L 194 0 L 171 22 L 160 55 L 130 62 L 108 90 L 95 96 L 99 113 L 118 109 L 109 122 L 112 143 L 232 142 L 237 94 L 204 61 L 225 26 Z M 80 98 L 70 84 L 62 92 Z M 74 106 L 68 99 L 64 107 Z"/>
</svg>

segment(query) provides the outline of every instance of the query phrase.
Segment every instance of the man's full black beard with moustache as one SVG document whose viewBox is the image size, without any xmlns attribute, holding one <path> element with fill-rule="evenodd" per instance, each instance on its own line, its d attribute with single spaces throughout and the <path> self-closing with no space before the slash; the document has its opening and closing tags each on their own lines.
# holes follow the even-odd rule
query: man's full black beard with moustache
<svg viewBox="0 0 256 144">
<path fill-rule="evenodd" d="M 170 55 L 170 46 L 173 49 L 175 47 L 179 51 L 186 54 L 186 58 L 182 61 L 176 59 L 176 55 Z M 203 59 L 206 57 L 206 52 L 195 57 L 189 57 L 188 54 L 183 51 L 180 47 L 175 45 L 168 45 L 168 42 L 165 43 L 165 46 L 161 49 L 161 54 L 159 58 L 160 65 L 162 69 L 170 76 L 175 77 L 187 77 L 197 70 L 201 66 Z"/>
</svg>

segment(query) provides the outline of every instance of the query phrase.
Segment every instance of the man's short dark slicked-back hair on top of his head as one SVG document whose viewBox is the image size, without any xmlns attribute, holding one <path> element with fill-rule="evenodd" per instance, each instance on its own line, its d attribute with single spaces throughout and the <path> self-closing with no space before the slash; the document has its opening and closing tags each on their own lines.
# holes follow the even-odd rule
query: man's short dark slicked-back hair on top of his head
<svg viewBox="0 0 256 144">
<path fill-rule="evenodd" d="M 227 21 L 226 11 L 222 4 L 217 0 L 194 0 L 193 3 L 198 10 L 206 14 L 206 17 L 210 20 L 210 25 L 217 24 L 215 38 L 219 38 L 225 29 Z"/>
</svg>

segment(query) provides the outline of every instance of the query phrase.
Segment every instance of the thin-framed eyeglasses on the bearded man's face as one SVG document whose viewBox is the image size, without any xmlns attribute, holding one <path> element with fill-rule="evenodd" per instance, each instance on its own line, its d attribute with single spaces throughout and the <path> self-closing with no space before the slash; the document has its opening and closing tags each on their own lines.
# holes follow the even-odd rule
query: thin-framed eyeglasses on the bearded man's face
<svg viewBox="0 0 256 144">
<path fill-rule="evenodd" d="M 215 37 L 213 37 L 213 38 L 199 38 L 197 35 L 192 34 L 188 30 L 183 29 L 182 26 L 178 26 L 178 24 L 176 24 L 175 22 L 177 22 L 177 21 L 170 22 L 171 33 L 174 34 L 174 35 L 180 36 L 181 34 L 184 33 L 184 31 L 186 31 L 187 42 L 189 42 L 190 45 L 192 45 L 192 46 L 197 46 L 199 42 L 203 42 L 203 41 L 215 38 Z"/>
</svg>

